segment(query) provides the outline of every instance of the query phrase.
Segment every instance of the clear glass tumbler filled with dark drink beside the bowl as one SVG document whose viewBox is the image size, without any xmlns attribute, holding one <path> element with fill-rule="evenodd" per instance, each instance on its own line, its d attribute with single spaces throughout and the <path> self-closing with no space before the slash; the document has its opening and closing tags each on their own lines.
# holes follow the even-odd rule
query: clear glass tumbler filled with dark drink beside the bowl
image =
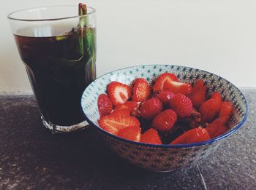
<svg viewBox="0 0 256 190">
<path fill-rule="evenodd" d="M 53 6 L 7 16 L 42 122 L 52 132 L 88 124 L 80 98 L 96 77 L 95 9 L 87 7 L 84 14 L 78 15 L 78 6 Z"/>
</svg>

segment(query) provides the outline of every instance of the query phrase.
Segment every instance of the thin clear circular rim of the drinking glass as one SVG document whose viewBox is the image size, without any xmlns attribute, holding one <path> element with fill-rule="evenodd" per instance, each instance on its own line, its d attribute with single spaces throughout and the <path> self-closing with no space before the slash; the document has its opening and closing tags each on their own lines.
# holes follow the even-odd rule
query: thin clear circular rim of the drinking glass
<svg viewBox="0 0 256 190">
<path fill-rule="evenodd" d="M 70 18 L 86 17 L 87 15 L 92 15 L 92 14 L 94 14 L 94 12 L 96 12 L 96 9 L 94 9 L 93 7 L 87 7 L 89 9 L 91 9 L 91 12 L 87 13 L 86 15 L 75 15 L 75 16 L 71 16 L 71 17 L 58 17 L 58 18 L 48 18 L 48 19 L 22 19 L 22 18 L 12 17 L 12 15 L 17 12 L 24 12 L 24 11 L 36 10 L 36 9 L 47 9 L 48 7 L 78 7 L 78 6 L 77 5 L 53 5 L 53 6 L 45 6 L 45 7 L 31 7 L 31 8 L 26 8 L 26 9 L 19 9 L 19 10 L 16 10 L 16 11 L 8 14 L 7 18 L 10 20 L 18 20 L 18 21 L 26 21 L 26 22 L 54 21 L 54 20 L 65 20 L 65 19 L 70 19 Z"/>
</svg>

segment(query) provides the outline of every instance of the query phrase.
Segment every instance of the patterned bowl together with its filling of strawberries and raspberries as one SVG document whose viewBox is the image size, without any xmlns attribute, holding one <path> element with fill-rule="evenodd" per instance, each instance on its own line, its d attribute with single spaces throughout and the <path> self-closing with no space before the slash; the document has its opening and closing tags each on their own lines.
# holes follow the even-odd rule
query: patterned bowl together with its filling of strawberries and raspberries
<svg viewBox="0 0 256 190">
<path fill-rule="evenodd" d="M 173 65 L 133 66 L 100 76 L 86 87 L 81 106 L 111 150 L 156 172 L 206 158 L 247 115 L 246 99 L 234 84 Z"/>
</svg>

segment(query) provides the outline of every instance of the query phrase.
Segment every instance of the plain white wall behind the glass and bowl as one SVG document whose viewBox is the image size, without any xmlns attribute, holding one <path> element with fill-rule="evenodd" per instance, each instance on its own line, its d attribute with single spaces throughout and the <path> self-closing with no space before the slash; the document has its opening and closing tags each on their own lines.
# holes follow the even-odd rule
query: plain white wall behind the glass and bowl
<svg viewBox="0 0 256 190">
<path fill-rule="evenodd" d="M 0 92 L 31 90 L 6 15 L 79 1 L 0 0 Z M 140 64 L 192 66 L 256 87 L 256 1 L 90 0 L 97 9 L 97 74 Z"/>
</svg>

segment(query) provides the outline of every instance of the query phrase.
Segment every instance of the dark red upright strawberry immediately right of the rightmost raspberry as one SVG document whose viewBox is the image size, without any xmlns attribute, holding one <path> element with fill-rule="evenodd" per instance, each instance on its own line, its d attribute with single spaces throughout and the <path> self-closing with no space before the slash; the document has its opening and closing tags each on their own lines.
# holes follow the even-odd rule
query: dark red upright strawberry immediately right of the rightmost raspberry
<svg viewBox="0 0 256 190">
<path fill-rule="evenodd" d="M 195 82 L 192 93 L 189 95 L 195 108 L 199 108 L 201 103 L 206 101 L 206 90 L 207 87 L 203 85 L 203 80 Z"/>
</svg>

